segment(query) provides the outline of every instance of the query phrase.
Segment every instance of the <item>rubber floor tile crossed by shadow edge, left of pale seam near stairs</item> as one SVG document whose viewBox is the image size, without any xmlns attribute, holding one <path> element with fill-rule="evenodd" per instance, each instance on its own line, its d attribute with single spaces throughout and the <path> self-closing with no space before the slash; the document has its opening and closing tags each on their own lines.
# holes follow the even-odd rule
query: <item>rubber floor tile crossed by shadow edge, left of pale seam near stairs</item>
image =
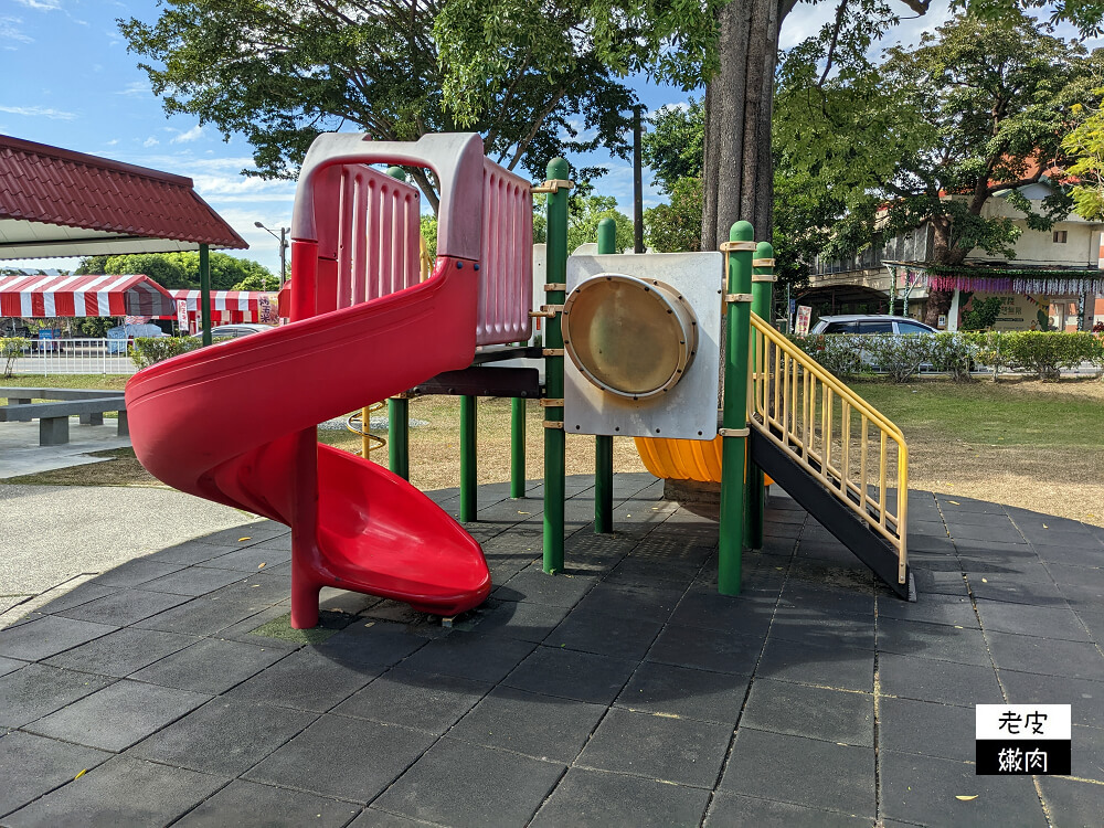
<svg viewBox="0 0 1104 828">
<path fill-rule="evenodd" d="M 874 688 L 874 652 L 830 643 L 790 641 L 771 636 L 756 675 L 869 693 Z"/>
</svg>

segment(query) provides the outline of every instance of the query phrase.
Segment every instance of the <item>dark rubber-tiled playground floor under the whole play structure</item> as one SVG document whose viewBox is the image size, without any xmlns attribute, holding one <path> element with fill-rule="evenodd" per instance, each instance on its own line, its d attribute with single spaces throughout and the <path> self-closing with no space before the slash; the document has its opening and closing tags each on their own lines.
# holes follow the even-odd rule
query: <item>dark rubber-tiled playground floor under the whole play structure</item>
<svg viewBox="0 0 1104 828">
<path fill-rule="evenodd" d="M 708 516 L 619 475 L 595 535 L 590 486 L 554 577 L 539 487 L 480 488 L 496 588 L 452 628 L 326 590 L 293 633 L 287 530 L 244 517 L 38 607 L 0 630 L 0 825 L 1100 824 L 1104 530 L 910 492 L 910 604 L 775 492 L 729 598 Z M 1072 704 L 1073 777 L 975 775 L 1001 702 Z"/>
</svg>

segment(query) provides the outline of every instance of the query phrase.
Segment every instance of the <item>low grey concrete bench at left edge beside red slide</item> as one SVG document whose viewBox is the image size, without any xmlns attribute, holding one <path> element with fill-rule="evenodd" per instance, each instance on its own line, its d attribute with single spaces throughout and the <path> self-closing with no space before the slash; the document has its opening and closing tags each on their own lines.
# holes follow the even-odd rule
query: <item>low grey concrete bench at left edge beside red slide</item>
<svg viewBox="0 0 1104 828">
<path fill-rule="evenodd" d="M 7 405 L 0 405 L 0 423 L 38 420 L 40 446 L 68 443 L 68 418 L 73 415 L 79 416 L 84 425 L 103 425 L 106 412 L 118 412 L 118 435 L 130 435 L 127 404 L 121 391 L 0 388 L 0 396 L 8 400 Z M 60 402 L 34 403 L 32 400 Z"/>
</svg>

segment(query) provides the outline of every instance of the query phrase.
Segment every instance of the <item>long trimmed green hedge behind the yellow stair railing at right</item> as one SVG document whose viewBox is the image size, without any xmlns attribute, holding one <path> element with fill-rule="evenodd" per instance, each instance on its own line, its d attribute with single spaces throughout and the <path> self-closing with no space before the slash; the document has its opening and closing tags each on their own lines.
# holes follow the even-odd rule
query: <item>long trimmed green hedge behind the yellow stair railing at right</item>
<svg viewBox="0 0 1104 828">
<path fill-rule="evenodd" d="M 840 378 L 880 372 L 905 382 L 924 367 L 968 381 L 972 371 L 984 367 L 994 379 L 1001 371 L 1017 370 L 1057 380 L 1062 369 L 1084 362 L 1104 369 L 1104 337 L 1087 332 L 829 333 L 790 337 L 790 341 Z"/>
</svg>

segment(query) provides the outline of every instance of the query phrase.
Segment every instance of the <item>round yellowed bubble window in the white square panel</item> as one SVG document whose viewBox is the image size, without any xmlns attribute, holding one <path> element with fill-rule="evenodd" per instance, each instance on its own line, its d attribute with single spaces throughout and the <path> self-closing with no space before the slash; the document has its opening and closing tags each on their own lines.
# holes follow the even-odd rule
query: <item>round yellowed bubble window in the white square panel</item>
<svg viewBox="0 0 1104 828">
<path fill-rule="evenodd" d="M 693 309 L 662 282 L 598 274 L 571 291 L 562 319 L 564 351 L 580 372 L 630 400 L 670 391 L 698 351 Z"/>
</svg>

